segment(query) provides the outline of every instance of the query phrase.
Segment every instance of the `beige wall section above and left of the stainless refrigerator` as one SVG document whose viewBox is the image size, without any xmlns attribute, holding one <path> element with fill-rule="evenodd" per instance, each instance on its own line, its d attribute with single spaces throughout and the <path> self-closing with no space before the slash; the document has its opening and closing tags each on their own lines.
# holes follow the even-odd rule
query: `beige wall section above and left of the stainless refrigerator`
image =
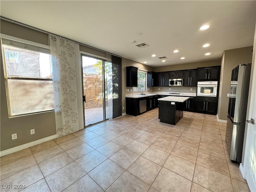
<svg viewBox="0 0 256 192">
<path fill-rule="evenodd" d="M 243 63 L 252 62 L 252 46 L 225 50 L 222 57 L 222 66 L 221 66 L 221 91 L 219 96 L 218 104 L 218 118 L 220 120 L 227 120 L 228 113 L 228 97 L 230 89 L 230 80 L 231 80 L 231 71 L 233 68 Z"/>
</svg>

